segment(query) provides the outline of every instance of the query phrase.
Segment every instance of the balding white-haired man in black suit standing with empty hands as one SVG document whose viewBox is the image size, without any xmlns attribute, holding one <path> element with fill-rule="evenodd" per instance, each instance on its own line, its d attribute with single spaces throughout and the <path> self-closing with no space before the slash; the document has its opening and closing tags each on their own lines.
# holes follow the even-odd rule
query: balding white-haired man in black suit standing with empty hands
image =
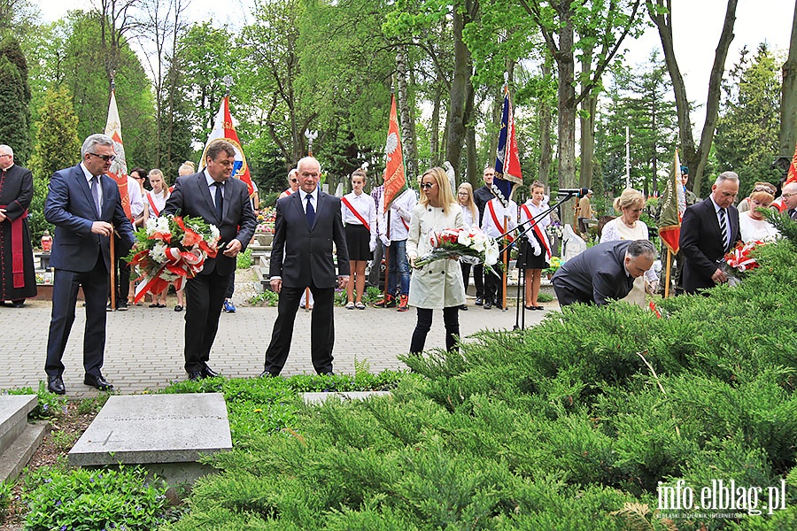
<svg viewBox="0 0 797 531">
<path fill-rule="evenodd" d="M 260 376 L 276 376 L 285 366 L 299 298 L 306 288 L 310 288 L 315 298 L 310 324 L 313 367 L 319 374 L 332 373 L 335 288 L 344 288 L 349 281 L 349 254 L 340 199 L 318 189 L 321 165 L 315 158 L 302 158 L 297 168 L 298 192 L 282 197 L 276 205 L 271 288 L 280 294 L 280 301 L 266 350 L 265 369 Z M 333 242 L 337 248 L 337 276 Z"/>
</svg>

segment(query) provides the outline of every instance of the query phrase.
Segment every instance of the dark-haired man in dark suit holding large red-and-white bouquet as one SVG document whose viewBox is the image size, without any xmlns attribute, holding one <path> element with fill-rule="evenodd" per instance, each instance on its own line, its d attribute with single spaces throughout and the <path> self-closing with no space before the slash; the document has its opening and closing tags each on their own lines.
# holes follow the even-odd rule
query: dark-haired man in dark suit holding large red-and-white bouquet
<svg viewBox="0 0 797 531">
<path fill-rule="evenodd" d="M 235 162 L 235 147 L 221 138 L 213 140 L 205 151 L 205 171 L 179 177 L 163 207 L 164 214 L 179 211 L 205 219 L 221 233 L 219 254 L 206 258 L 202 271 L 185 283 L 185 372 L 190 380 L 218 376 L 207 362 L 224 294 L 236 273 L 236 255 L 246 249 L 257 226 L 246 183 L 230 179 Z"/>
</svg>

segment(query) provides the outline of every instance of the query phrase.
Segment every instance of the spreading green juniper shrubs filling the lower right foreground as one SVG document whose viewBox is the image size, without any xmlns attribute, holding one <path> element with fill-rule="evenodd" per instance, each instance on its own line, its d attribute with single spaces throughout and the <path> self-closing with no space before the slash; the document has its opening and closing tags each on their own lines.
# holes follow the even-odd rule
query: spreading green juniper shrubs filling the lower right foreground
<svg viewBox="0 0 797 531">
<path fill-rule="evenodd" d="M 797 247 L 759 259 L 662 319 L 571 306 L 407 357 L 390 398 L 293 403 L 290 424 L 211 458 L 221 473 L 165 528 L 795 529 Z M 784 480 L 785 510 L 659 510 L 662 485 L 716 480 Z"/>
</svg>

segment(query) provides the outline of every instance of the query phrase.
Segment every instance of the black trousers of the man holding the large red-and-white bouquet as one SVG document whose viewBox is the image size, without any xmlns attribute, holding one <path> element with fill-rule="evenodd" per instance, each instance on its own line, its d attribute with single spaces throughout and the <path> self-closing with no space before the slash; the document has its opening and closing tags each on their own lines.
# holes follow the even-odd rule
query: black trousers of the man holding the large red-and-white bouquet
<svg viewBox="0 0 797 531">
<path fill-rule="evenodd" d="M 201 371 L 219 330 L 221 304 L 229 286 L 229 275 L 212 271 L 198 274 L 185 283 L 185 371 Z"/>
</svg>

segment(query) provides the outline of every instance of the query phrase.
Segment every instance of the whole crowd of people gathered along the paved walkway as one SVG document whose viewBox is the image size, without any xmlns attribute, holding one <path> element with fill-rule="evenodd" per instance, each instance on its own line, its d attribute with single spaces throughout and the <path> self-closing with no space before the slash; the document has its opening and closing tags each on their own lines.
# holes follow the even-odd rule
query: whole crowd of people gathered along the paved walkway
<svg viewBox="0 0 797 531">
<path fill-rule="evenodd" d="M 175 312 L 185 312 L 184 369 L 188 377 L 197 380 L 218 375 L 209 365 L 210 353 L 221 312 L 235 312 L 231 296 L 236 256 L 252 241 L 256 227 L 256 196 L 251 196 L 243 181 L 231 178 L 235 154 L 229 142 L 214 142 L 205 152 L 202 171 L 197 173 L 191 163 L 183 164 L 171 187 L 159 169 L 146 172 L 135 168 L 129 173 L 126 193 L 121 194 L 124 183 L 107 175 L 116 158 L 112 139 L 90 135 L 81 147 L 81 162 L 53 174 L 44 204 L 45 219 L 56 227 L 50 256 L 55 273 L 45 362 L 50 391 L 66 392 L 61 358 L 74 322 L 78 289 L 82 289 L 86 308 L 84 383 L 112 389 L 101 372 L 105 312 L 113 309 L 109 298 L 115 300 L 117 310 L 124 311 L 135 293 L 135 279 L 121 257 L 134 245 L 137 227 L 143 227 L 147 219 L 176 212 L 204 219 L 221 234 L 218 255 L 207 258 L 201 271 L 185 282 L 186 295 L 182 289 L 176 292 L 174 306 Z M 27 227 L 33 180 L 28 170 L 14 164 L 13 151 L 6 145 L 0 145 L 0 170 L 0 302 L 21 307 L 26 298 L 36 295 Z M 409 352 L 423 351 L 436 310 L 443 312 L 446 348 L 455 349 L 459 312 L 468 310 L 471 276 L 475 304 L 484 310 L 504 304 L 504 284 L 498 274 L 464 260 L 443 259 L 417 266 L 418 258 L 431 250 L 429 235 L 447 228 L 479 227 L 484 235 L 501 242 L 502 253 L 515 248 L 524 284 L 523 309 L 543 310 L 538 298 L 542 273 L 553 258 L 546 230 L 553 209 L 545 185 L 533 181 L 528 201 L 518 205 L 511 199 L 502 200 L 494 178 L 495 170 L 487 167 L 483 186 L 474 190 L 466 182 L 453 189 L 445 170 L 433 167 L 418 180 L 420 194 L 408 187 L 385 205 L 384 185 L 366 192 L 365 170 L 352 173 L 352 192 L 339 198 L 321 190 L 318 160 L 299 160 L 288 173 L 288 189 L 275 205 L 269 281 L 279 302 L 260 375 L 281 373 L 296 313 L 305 307 L 313 310 L 313 368 L 320 374 L 332 373 L 335 290 L 345 289 L 346 310 L 365 310 L 365 289 L 379 286 L 383 260 L 387 281 L 383 297 L 374 306 L 398 312 L 414 308 L 416 325 Z M 739 192 L 736 173 L 720 173 L 711 194 L 702 201 L 685 189 L 685 181 L 683 186 L 688 192 L 688 208 L 677 262 L 686 293 L 727 281 L 723 256 L 737 242 L 778 237 L 761 208 L 773 208 L 797 219 L 797 181 L 785 183 L 777 198 L 776 187 L 757 182 L 739 208 L 734 206 Z M 594 218 L 591 196 L 589 191 L 576 205 L 576 220 L 584 233 L 590 225 L 587 221 Z M 562 307 L 607 304 L 612 299 L 646 305 L 646 294 L 655 292 L 659 279 L 653 268 L 657 253 L 648 227 L 640 219 L 645 204 L 645 197 L 634 189 L 625 189 L 615 198 L 618 216 L 602 226 L 600 242 L 569 259 L 553 275 L 553 289 Z M 117 252 L 113 260 L 111 238 Z M 109 272 L 114 267 L 118 281 L 114 296 L 110 296 Z M 150 306 L 166 307 L 166 289 L 151 295 Z"/>
</svg>

